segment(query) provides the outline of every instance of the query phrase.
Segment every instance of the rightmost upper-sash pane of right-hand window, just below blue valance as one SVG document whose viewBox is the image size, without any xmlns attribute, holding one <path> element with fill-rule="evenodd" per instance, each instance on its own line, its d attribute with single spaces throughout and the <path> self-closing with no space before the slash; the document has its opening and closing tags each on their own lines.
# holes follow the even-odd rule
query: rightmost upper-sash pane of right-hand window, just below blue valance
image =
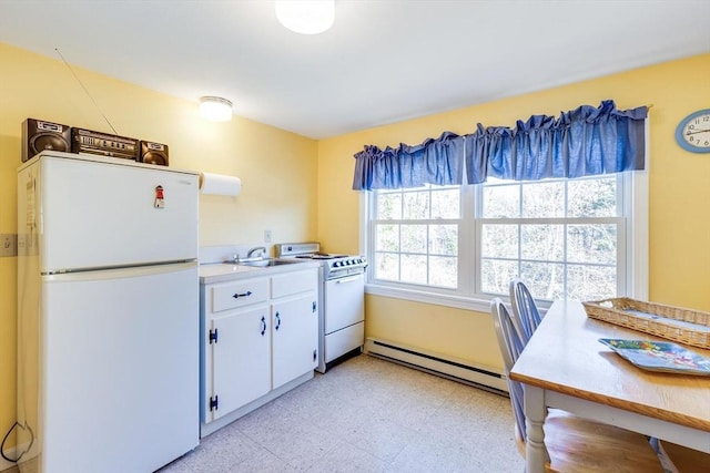
<svg viewBox="0 0 710 473">
<path fill-rule="evenodd" d="M 567 198 L 569 217 L 616 217 L 617 178 L 570 181 Z"/>
</svg>

